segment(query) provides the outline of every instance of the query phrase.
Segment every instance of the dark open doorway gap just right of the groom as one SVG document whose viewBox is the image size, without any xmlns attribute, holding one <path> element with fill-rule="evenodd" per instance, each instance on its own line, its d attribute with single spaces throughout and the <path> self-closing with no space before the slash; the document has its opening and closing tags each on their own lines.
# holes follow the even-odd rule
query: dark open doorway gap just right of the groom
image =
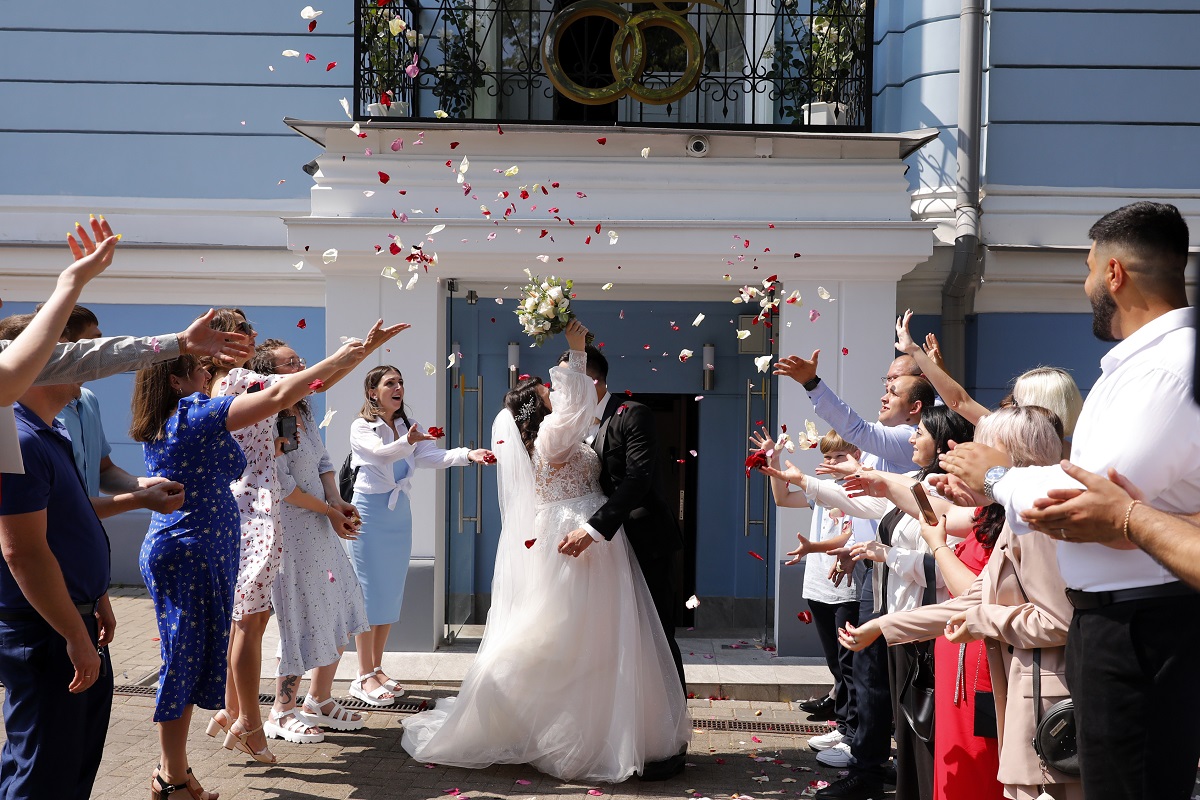
<svg viewBox="0 0 1200 800">
<path fill-rule="evenodd" d="M 696 613 L 684 603 L 696 594 L 696 458 L 691 452 L 700 443 L 700 409 L 691 395 L 636 395 L 634 399 L 654 413 L 659 491 L 683 533 L 674 576 L 676 620 L 679 627 L 691 627 Z"/>
</svg>

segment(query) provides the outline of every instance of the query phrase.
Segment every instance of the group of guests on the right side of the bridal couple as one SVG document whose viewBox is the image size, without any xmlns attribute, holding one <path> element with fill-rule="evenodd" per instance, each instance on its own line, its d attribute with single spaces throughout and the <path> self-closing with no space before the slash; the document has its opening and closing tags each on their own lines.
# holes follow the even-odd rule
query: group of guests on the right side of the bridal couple
<svg viewBox="0 0 1200 800">
<path fill-rule="evenodd" d="M 804 597 L 835 678 L 808 705 L 836 727 L 809 744 L 847 768 L 817 798 L 882 796 L 893 738 L 901 799 L 1192 795 L 1188 228 L 1175 206 L 1144 201 L 1090 237 L 1093 332 L 1118 343 L 1086 402 L 1069 373 L 1039 367 L 988 409 L 947 374 L 936 338 L 913 341 L 908 313 L 876 422 L 821 381 L 817 353 L 776 365 L 833 428 L 816 475 L 780 463 L 766 431 L 751 437 L 775 501 L 815 510 L 791 555 L 808 560 Z"/>
</svg>

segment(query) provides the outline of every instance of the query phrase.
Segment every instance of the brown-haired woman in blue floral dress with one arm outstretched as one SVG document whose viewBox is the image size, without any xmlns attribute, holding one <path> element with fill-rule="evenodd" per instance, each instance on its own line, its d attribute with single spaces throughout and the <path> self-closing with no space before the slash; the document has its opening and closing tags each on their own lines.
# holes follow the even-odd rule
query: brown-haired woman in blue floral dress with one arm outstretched
<svg viewBox="0 0 1200 800">
<path fill-rule="evenodd" d="M 240 546 L 229 482 L 246 467 L 229 432 L 293 405 L 312 391 L 311 381 L 353 367 L 362 355 L 362 344 L 350 342 L 312 369 L 236 397 L 208 397 L 208 369 L 193 356 L 138 372 L 130 434 L 143 443 L 148 475 L 178 480 L 186 497 L 179 511 L 154 515 L 139 559 L 162 650 L 154 715 L 162 758 L 151 778 L 154 798 L 186 792 L 194 800 L 216 799 L 187 765 L 187 729 L 193 705 L 220 709 L 224 703 Z M 224 746 L 256 757 L 246 744 L 252 733 L 234 728 Z"/>
</svg>

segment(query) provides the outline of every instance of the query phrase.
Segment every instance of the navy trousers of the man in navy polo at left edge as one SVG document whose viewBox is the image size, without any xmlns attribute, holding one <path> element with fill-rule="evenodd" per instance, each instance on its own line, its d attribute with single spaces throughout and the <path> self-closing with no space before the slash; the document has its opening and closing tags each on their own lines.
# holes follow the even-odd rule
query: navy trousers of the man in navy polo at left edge
<svg viewBox="0 0 1200 800">
<path fill-rule="evenodd" d="M 96 639 L 96 618 L 84 621 Z M 113 706 L 113 668 L 86 691 L 67 685 L 74 667 L 66 640 L 42 619 L 0 622 L 0 681 L 8 740 L 0 754 L 0 798 L 88 800 L 100 770 Z"/>
</svg>

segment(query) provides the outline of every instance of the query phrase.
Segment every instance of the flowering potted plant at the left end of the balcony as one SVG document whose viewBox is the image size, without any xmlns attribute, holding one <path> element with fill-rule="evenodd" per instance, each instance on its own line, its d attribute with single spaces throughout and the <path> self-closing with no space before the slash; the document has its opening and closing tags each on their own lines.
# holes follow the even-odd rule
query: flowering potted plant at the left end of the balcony
<svg viewBox="0 0 1200 800">
<path fill-rule="evenodd" d="M 401 14 L 386 6 L 364 8 L 362 49 L 366 53 L 370 83 L 367 103 L 371 116 L 408 116 L 415 56 L 420 36 Z"/>
</svg>

